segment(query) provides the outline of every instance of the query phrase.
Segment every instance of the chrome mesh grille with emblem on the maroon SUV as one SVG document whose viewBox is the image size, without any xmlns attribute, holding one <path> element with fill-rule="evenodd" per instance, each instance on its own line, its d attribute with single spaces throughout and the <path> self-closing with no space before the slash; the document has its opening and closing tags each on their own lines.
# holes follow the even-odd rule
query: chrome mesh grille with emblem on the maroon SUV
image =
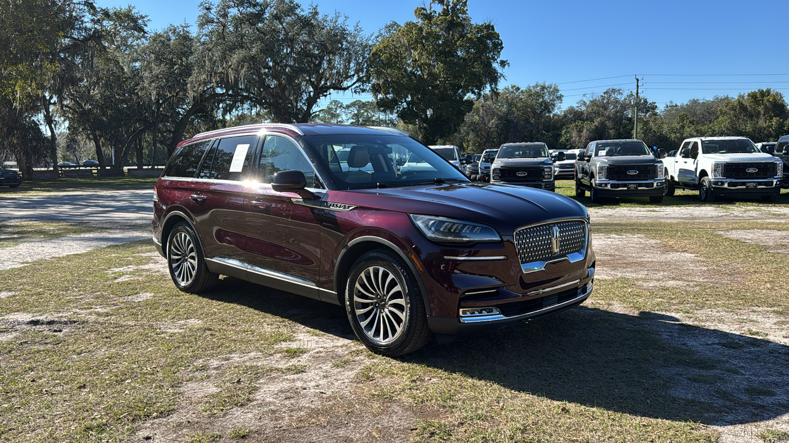
<svg viewBox="0 0 789 443">
<path fill-rule="evenodd" d="M 553 227 L 559 228 L 559 251 L 553 248 Z M 555 221 L 515 231 L 515 250 L 521 264 L 550 262 L 582 251 L 586 246 L 586 221 Z"/>
</svg>

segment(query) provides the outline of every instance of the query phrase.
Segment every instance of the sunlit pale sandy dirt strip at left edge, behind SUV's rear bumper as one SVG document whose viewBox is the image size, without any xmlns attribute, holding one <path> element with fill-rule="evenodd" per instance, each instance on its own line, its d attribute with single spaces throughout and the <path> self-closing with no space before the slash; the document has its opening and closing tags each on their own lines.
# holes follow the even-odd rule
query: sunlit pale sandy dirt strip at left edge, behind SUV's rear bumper
<svg viewBox="0 0 789 443">
<path fill-rule="evenodd" d="M 22 241 L 10 248 L 0 248 L 0 270 L 18 268 L 41 259 L 54 259 L 64 255 L 81 254 L 111 244 L 151 238 L 143 231 L 117 231 L 114 233 L 86 233 L 46 241 Z"/>
</svg>

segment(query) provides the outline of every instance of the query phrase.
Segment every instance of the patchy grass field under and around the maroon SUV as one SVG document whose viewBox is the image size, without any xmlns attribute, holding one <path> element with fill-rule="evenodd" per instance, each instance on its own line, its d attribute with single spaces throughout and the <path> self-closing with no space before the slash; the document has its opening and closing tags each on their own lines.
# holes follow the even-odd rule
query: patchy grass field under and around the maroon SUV
<svg viewBox="0 0 789 443">
<path fill-rule="evenodd" d="M 228 277 L 178 292 L 149 241 L 2 270 L 0 441 L 789 441 L 789 225 L 593 239 L 581 307 L 397 359 L 341 307 Z"/>
</svg>

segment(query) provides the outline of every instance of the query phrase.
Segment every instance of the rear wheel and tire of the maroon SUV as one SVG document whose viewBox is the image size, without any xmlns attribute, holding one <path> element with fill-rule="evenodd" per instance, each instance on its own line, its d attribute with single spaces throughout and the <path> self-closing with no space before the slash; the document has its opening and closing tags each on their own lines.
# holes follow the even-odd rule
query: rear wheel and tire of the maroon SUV
<svg viewBox="0 0 789 443">
<path fill-rule="evenodd" d="M 205 292 L 219 281 L 219 274 L 208 270 L 197 236 L 192 226 L 185 221 L 170 231 L 167 239 L 167 269 L 175 286 L 183 292 Z"/>
</svg>

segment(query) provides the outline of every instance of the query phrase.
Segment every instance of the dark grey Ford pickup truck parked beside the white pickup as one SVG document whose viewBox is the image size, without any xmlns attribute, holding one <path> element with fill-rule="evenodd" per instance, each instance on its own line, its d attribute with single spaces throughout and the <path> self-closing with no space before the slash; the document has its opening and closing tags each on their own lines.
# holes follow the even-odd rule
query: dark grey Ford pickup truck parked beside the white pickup
<svg viewBox="0 0 789 443">
<path fill-rule="evenodd" d="M 602 203 L 604 197 L 649 197 L 660 203 L 665 168 L 659 157 L 665 154 L 641 140 L 593 141 L 575 162 L 575 195 L 589 191 L 592 203 Z"/>
</svg>

